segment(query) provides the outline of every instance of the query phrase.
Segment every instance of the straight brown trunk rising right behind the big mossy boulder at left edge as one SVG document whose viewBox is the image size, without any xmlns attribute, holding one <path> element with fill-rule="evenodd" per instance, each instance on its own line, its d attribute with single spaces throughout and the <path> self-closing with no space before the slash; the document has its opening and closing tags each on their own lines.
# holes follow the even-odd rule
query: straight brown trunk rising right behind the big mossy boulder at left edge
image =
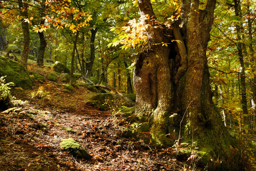
<svg viewBox="0 0 256 171">
<path fill-rule="evenodd" d="M 21 55 L 21 64 L 27 68 L 28 56 L 29 56 L 29 23 L 25 22 L 24 19 L 28 18 L 28 6 L 23 3 L 22 0 L 18 0 L 20 15 L 21 17 L 21 27 L 23 32 L 23 51 Z M 23 10 L 24 9 L 24 10 Z"/>
</svg>

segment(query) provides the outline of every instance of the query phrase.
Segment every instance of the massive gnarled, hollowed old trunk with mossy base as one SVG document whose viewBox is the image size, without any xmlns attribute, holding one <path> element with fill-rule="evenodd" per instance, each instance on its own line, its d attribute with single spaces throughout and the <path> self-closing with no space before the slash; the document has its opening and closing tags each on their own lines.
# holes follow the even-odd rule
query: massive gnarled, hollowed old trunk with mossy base
<svg viewBox="0 0 256 171">
<path fill-rule="evenodd" d="M 173 23 L 172 29 L 147 30 L 147 46 L 151 49 L 135 58 L 135 112 L 141 121 L 152 124 L 152 141 L 158 146 L 171 145 L 166 134 L 172 128 L 180 129 L 185 114 L 181 123 L 183 141 L 192 142 L 193 136 L 198 146 L 208 147 L 212 157 L 227 159 L 232 142 L 212 102 L 204 51 L 210 38 L 215 3 L 216 0 L 208 0 L 206 9 L 199 10 L 199 0 L 183 0 L 181 23 Z M 142 23 L 151 24 L 144 20 L 146 14 L 155 16 L 150 0 L 138 0 L 138 5 Z M 172 39 L 180 43 L 172 43 Z M 160 45 L 154 45 L 157 43 Z M 169 118 L 172 112 L 179 116 L 175 122 Z"/>
</svg>

